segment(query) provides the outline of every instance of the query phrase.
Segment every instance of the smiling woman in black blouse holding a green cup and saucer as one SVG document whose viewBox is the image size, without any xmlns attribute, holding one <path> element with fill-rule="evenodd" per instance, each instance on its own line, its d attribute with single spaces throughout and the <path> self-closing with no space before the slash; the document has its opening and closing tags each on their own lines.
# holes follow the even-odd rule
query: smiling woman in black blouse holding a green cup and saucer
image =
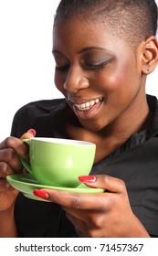
<svg viewBox="0 0 158 256">
<path fill-rule="evenodd" d="M 28 103 L 0 144 L 2 237 L 158 236 L 158 103 L 145 94 L 158 63 L 156 29 L 151 0 L 60 1 L 53 55 L 65 99 Z M 35 133 L 95 143 L 90 176 L 79 180 L 105 193 L 35 190 L 48 204 L 8 187 L 5 176 L 22 172 L 18 155 L 28 158 L 18 138 Z"/>
</svg>

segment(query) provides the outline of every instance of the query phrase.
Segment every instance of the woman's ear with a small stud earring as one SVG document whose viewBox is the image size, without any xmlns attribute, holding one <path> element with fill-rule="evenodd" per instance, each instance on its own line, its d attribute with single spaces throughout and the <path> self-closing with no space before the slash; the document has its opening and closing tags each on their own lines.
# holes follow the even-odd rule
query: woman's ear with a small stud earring
<svg viewBox="0 0 158 256">
<path fill-rule="evenodd" d="M 153 72 L 158 64 L 158 40 L 156 37 L 148 37 L 143 42 L 142 73 L 148 75 Z"/>
</svg>

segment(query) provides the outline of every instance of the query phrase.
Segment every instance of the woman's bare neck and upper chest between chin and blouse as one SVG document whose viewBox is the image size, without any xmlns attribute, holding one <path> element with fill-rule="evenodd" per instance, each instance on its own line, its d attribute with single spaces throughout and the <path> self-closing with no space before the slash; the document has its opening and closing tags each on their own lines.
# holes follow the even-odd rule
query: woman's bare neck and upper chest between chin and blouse
<svg viewBox="0 0 158 256">
<path fill-rule="evenodd" d="M 135 106 L 135 104 L 139 106 Z M 119 118 L 96 133 L 82 127 L 74 113 L 71 112 L 67 125 L 68 138 L 95 143 L 97 146 L 95 163 L 99 162 L 124 144 L 133 133 L 150 126 L 152 115 L 149 111 L 146 95 L 141 102 L 133 102 L 133 105 L 133 108 L 131 105 L 129 110 L 122 112 Z"/>
</svg>

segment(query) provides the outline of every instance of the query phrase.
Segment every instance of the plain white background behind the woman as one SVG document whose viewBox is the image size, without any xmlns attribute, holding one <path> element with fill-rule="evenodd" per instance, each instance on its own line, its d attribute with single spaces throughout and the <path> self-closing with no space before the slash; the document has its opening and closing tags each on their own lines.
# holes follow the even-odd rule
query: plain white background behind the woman
<svg viewBox="0 0 158 256">
<path fill-rule="evenodd" d="M 22 105 L 62 97 L 54 85 L 51 55 L 58 3 L 0 0 L 0 142 L 9 135 L 13 116 Z M 149 76 L 146 91 L 158 97 L 158 68 Z"/>
</svg>

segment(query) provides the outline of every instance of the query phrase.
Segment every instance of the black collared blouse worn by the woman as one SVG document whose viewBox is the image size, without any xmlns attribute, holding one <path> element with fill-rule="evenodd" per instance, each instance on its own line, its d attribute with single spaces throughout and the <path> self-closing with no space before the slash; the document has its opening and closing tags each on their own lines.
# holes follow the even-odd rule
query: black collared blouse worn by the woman
<svg viewBox="0 0 158 256">
<path fill-rule="evenodd" d="M 132 211 L 152 237 L 158 237 L 158 101 L 147 96 L 153 125 L 134 133 L 119 149 L 93 165 L 91 174 L 121 178 Z M 37 136 L 65 138 L 64 99 L 35 101 L 16 112 L 11 135 L 20 137 L 30 128 Z M 31 217 L 31 218 L 30 218 Z M 15 208 L 20 237 L 78 237 L 64 211 L 54 203 L 32 200 L 19 193 Z"/>
</svg>

